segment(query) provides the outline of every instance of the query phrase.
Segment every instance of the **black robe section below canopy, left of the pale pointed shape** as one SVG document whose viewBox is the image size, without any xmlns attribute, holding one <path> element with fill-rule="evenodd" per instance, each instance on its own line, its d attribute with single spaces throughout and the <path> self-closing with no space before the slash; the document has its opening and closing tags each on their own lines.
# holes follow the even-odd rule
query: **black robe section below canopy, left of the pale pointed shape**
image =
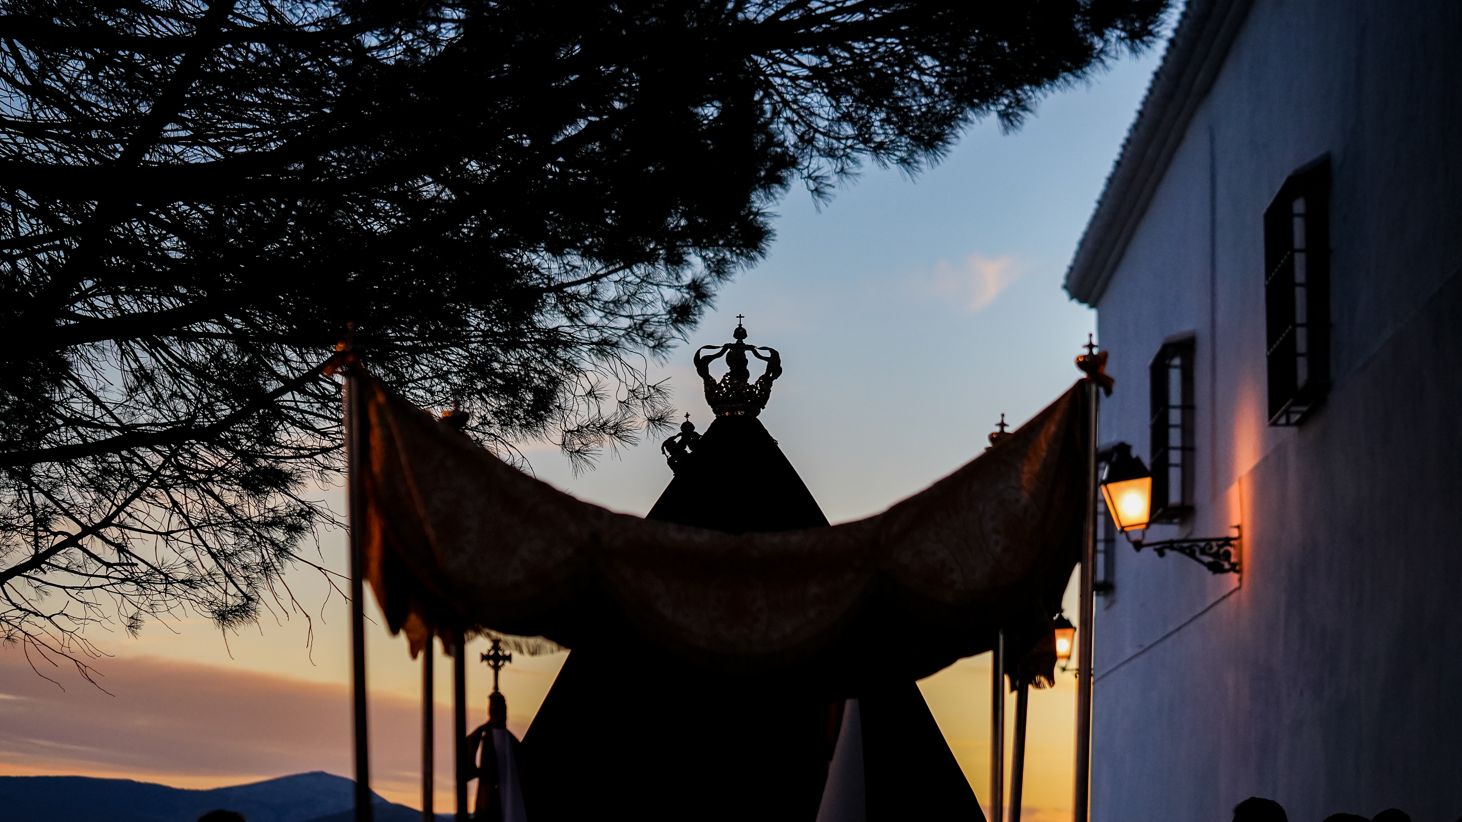
<svg viewBox="0 0 1462 822">
<path fill-rule="evenodd" d="M 569 653 L 523 736 L 523 794 L 534 822 L 607 807 L 643 822 L 811 822 L 827 730 L 827 699 L 804 682 L 712 672 L 633 638 L 591 642 Z"/>
</svg>

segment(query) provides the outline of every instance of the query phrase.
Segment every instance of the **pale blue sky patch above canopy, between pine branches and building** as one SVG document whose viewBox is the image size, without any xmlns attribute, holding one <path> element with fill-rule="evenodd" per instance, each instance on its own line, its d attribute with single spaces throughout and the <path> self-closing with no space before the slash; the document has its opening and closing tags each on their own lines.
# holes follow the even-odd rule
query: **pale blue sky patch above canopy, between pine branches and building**
<svg viewBox="0 0 1462 822">
<path fill-rule="evenodd" d="M 746 314 L 750 342 L 787 368 L 762 419 L 829 518 L 952 472 L 1001 412 L 1023 420 L 1077 377 L 1095 315 L 1061 277 L 1155 64 L 1156 53 L 1123 60 L 1054 93 L 1018 131 L 981 123 L 915 178 L 866 169 L 820 210 L 794 190 L 768 258 L 656 374 L 705 431 L 690 352 L 730 342 Z M 539 477 L 635 514 L 670 480 L 658 442 L 580 477 L 551 450 L 528 457 Z"/>
</svg>

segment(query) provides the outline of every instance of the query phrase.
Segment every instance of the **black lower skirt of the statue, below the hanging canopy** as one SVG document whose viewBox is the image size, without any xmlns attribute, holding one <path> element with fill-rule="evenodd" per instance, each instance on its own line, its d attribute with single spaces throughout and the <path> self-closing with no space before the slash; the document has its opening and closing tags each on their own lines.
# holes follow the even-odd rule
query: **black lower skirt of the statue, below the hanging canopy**
<svg viewBox="0 0 1462 822">
<path fill-rule="evenodd" d="M 867 685 L 867 822 L 982 822 L 912 682 Z M 813 822 L 836 708 L 804 682 L 724 676 L 632 647 L 575 648 L 523 737 L 534 822 Z M 832 731 L 832 733 L 829 733 Z"/>
</svg>

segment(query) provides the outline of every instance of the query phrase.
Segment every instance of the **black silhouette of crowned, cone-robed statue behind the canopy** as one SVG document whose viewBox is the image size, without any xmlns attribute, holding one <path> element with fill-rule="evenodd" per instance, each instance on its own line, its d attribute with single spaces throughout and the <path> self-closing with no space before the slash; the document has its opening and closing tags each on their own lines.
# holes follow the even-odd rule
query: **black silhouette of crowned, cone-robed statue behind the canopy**
<svg viewBox="0 0 1462 822">
<path fill-rule="evenodd" d="M 757 419 L 781 356 L 746 336 L 738 324 L 735 342 L 696 352 L 716 416 L 700 435 L 687 415 L 664 442 L 674 479 L 648 517 L 727 533 L 827 526 Z M 766 362 L 754 383 L 749 355 Z M 572 647 L 522 742 L 534 822 L 984 819 L 914 682 L 874 675 L 846 692 L 807 672 L 711 670 L 602 621 Z"/>
</svg>

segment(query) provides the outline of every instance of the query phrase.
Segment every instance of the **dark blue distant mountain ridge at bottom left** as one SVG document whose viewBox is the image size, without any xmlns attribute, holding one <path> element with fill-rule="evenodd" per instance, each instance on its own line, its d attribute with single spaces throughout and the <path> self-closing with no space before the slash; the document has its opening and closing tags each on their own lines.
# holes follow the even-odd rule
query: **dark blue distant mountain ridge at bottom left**
<svg viewBox="0 0 1462 822">
<path fill-rule="evenodd" d="M 249 822 L 348 822 L 352 780 L 323 771 L 247 785 L 184 790 L 133 780 L 0 777 L 4 822 L 194 822 L 209 810 L 237 810 Z M 374 794 L 373 794 L 374 796 Z M 418 822 L 421 812 L 374 796 L 377 822 Z M 439 813 L 446 822 L 447 816 Z"/>
</svg>

